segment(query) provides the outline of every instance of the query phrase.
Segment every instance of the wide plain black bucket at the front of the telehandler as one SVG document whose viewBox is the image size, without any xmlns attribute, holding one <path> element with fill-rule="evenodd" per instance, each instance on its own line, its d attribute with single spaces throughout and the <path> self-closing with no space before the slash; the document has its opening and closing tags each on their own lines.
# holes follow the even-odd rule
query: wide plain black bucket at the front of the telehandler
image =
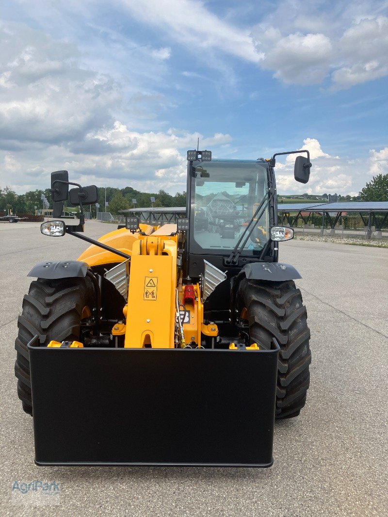
<svg viewBox="0 0 388 517">
<path fill-rule="evenodd" d="M 268 467 L 279 347 L 28 345 L 37 465 Z"/>
</svg>

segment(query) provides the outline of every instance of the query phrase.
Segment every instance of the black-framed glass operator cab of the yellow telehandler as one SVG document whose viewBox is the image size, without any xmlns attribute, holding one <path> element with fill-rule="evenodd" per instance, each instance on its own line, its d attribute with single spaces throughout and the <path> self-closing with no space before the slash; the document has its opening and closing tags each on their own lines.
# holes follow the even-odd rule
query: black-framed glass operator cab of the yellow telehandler
<svg viewBox="0 0 388 517">
<path fill-rule="evenodd" d="M 188 162 L 187 181 L 190 277 L 199 277 L 203 258 L 223 271 L 273 260 L 275 179 L 267 161 L 197 159 Z"/>
</svg>

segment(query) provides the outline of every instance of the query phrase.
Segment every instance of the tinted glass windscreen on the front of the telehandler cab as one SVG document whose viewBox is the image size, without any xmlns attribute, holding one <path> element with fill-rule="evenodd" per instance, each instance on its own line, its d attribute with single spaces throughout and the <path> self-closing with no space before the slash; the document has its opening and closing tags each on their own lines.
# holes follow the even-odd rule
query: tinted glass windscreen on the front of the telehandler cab
<svg viewBox="0 0 388 517">
<path fill-rule="evenodd" d="M 204 250 L 232 250 L 265 195 L 266 163 L 214 160 L 196 165 L 193 173 L 195 242 Z M 246 254 L 262 250 L 269 224 L 266 209 L 246 242 Z"/>
</svg>

